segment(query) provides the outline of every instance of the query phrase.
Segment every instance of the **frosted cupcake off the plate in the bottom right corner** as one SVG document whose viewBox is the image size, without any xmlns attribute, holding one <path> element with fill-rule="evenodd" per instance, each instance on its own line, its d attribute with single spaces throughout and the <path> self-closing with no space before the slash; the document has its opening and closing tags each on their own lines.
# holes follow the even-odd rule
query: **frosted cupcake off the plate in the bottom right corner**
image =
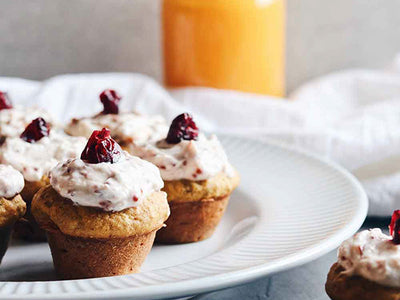
<svg viewBox="0 0 400 300">
<path fill-rule="evenodd" d="M 342 243 L 325 285 L 331 299 L 400 299 L 400 210 L 389 228 L 392 236 L 375 228 Z"/>
</svg>

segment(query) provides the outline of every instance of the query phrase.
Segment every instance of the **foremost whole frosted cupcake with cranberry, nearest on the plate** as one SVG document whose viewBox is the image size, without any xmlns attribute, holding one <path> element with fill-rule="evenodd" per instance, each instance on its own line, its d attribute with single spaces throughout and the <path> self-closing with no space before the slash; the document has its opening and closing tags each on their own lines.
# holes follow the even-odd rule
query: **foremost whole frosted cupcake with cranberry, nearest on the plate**
<svg viewBox="0 0 400 300">
<path fill-rule="evenodd" d="M 81 158 L 59 163 L 32 203 L 63 279 L 138 272 L 169 215 L 159 170 L 94 131 Z"/>
</svg>

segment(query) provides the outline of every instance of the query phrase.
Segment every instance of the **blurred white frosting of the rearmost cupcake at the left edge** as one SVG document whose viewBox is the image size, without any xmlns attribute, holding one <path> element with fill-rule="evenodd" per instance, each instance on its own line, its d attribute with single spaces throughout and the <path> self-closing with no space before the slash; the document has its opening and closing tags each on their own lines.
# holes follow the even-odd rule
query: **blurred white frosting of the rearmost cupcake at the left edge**
<svg viewBox="0 0 400 300">
<path fill-rule="evenodd" d="M 25 127 L 38 117 L 42 117 L 46 122 L 53 122 L 46 111 L 36 107 L 16 106 L 0 110 L 0 136 L 19 137 Z"/>
</svg>

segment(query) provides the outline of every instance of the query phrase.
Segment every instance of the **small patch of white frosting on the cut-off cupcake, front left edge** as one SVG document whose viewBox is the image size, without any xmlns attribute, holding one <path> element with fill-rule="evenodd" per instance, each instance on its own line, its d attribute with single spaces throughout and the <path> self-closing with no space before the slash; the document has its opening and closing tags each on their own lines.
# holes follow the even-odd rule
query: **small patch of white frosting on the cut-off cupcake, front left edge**
<svg viewBox="0 0 400 300">
<path fill-rule="evenodd" d="M 24 188 L 24 177 L 11 166 L 0 165 L 0 197 L 12 198 Z"/>
</svg>

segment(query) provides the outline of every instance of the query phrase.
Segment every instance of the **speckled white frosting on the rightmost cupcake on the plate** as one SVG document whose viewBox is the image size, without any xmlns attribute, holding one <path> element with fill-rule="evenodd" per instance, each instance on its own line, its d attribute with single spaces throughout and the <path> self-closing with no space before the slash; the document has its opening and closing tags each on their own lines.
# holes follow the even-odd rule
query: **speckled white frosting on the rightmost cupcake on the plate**
<svg viewBox="0 0 400 300">
<path fill-rule="evenodd" d="M 164 180 L 205 180 L 221 172 L 229 177 L 235 175 L 215 135 L 207 138 L 200 134 L 197 140 L 183 140 L 178 144 L 162 141 L 131 145 L 129 149 L 134 155 L 155 164 Z"/>
</svg>

